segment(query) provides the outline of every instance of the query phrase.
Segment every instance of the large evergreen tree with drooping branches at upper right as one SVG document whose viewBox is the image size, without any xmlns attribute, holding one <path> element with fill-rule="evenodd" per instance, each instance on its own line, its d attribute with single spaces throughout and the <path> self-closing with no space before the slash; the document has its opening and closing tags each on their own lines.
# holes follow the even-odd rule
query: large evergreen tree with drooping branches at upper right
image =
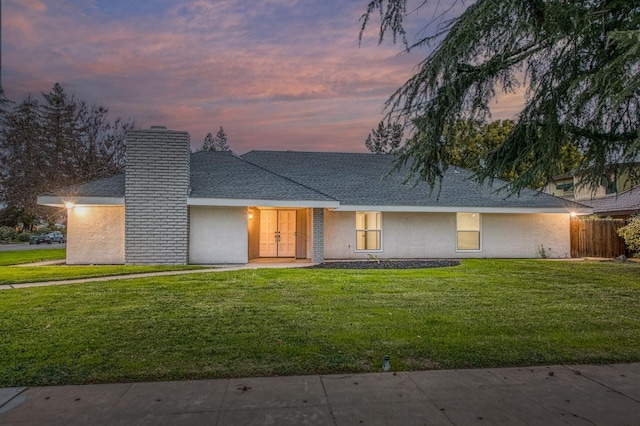
<svg viewBox="0 0 640 426">
<path fill-rule="evenodd" d="M 441 19 L 428 14 L 417 34 L 432 35 L 408 43 L 406 14 L 436 5 Z M 449 19 L 452 5 L 466 8 Z M 597 185 L 613 164 L 639 160 L 640 1 L 372 0 L 361 31 L 376 12 L 380 41 L 391 34 L 406 51 L 433 48 L 386 103 L 411 135 L 398 168 L 435 185 L 451 164 L 446 129 L 487 120 L 499 93 L 519 87 L 524 106 L 476 170 L 481 181 L 517 169 L 508 189 L 518 192 L 559 174 L 563 152 L 579 151 L 582 175 Z"/>
</svg>

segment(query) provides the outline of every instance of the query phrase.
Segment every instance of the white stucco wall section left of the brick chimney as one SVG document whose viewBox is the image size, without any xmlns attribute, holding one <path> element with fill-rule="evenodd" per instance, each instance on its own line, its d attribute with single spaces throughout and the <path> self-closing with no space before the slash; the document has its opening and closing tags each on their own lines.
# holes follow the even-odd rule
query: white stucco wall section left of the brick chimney
<svg viewBox="0 0 640 426">
<path fill-rule="evenodd" d="M 67 264 L 124 263 L 124 206 L 67 210 Z"/>
</svg>

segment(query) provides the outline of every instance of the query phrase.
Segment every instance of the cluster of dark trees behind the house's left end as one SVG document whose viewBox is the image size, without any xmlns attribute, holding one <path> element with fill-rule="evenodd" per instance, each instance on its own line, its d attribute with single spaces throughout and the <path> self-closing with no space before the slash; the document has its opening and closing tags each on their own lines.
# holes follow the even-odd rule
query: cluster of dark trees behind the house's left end
<svg viewBox="0 0 640 426">
<path fill-rule="evenodd" d="M 42 96 L 0 108 L 0 217 L 27 227 L 56 213 L 37 205 L 38 194 L 123 171 L 125 132 L 135 127 L 59 84 Z"/>
</svg>

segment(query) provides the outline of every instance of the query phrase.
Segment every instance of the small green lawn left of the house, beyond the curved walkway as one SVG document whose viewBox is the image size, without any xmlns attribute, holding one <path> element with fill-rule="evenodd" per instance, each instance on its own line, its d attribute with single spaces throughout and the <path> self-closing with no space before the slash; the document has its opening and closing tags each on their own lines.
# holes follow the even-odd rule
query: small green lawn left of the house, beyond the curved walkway
<svg viewBox="0 0 640 426">
<path fill-rule="evenodd" d="M 82 266 L 15 266 L 44 260 L 65 258 L 65 249 L 42 249 L 30 251 L 9 251 L 0 253 L 0 285 L 42 281 L 72 280 L 77 278 L 128 275 L 143 272 L 200 269 L 195 265 L 172 266 L 131 266 L 131 265 L 82 265 Z M 9 265 L 9 266 L 7 266 Z"/>
</svg>

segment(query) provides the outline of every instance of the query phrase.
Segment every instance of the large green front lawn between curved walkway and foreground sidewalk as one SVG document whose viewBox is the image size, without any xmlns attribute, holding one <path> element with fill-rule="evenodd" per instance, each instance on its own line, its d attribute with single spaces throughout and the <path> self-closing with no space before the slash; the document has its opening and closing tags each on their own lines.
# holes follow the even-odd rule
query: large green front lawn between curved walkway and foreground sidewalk
<svg viewBox="0 0 640 426">
<path fill-rule="evenodd" d="M 0 386 L 640 361 L 640 264 L 466 260 L 0 291 Z"/>
</svg>

